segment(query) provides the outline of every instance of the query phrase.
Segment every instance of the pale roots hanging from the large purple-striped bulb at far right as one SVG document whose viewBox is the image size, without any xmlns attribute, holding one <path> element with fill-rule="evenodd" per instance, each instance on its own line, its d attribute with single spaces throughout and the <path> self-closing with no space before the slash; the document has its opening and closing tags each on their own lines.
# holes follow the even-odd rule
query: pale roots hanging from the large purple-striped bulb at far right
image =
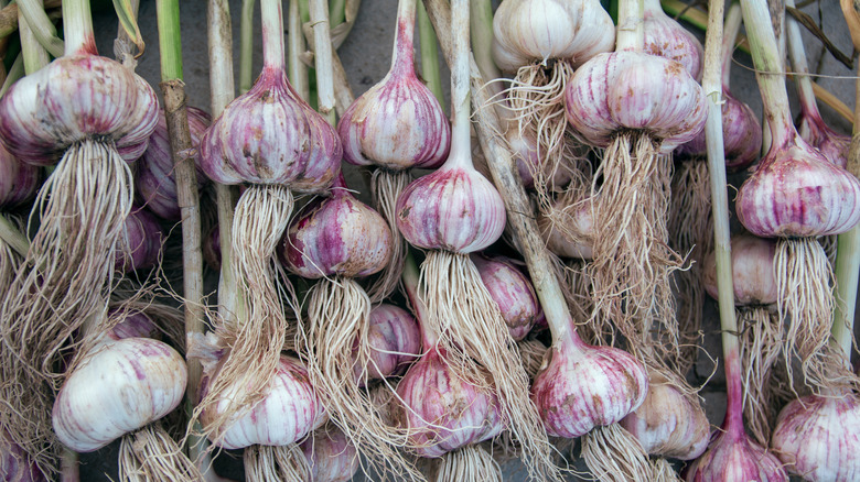
<svg viewBox="0 0 860 482">
<path fill-rule="evenodd" d="M 827 253 L 815 238 L 781 239 L 776 243 L 774 277 L 778 291 L 780 319 L 791 318 L 783 353 L 788 380 L 791 360 L 800 360 L 804 382 L 820 394 L 851 377 L 840 375 L 843 361 L 828 349 L 834 310 L 834 271 Z"/>
</svg>

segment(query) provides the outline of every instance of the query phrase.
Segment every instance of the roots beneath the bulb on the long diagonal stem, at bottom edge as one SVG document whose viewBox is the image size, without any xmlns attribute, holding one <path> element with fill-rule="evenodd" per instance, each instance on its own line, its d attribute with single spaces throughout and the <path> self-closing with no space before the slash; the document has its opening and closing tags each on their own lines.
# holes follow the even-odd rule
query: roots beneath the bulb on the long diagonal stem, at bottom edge
<svg viewBox="0 0 860 482">
<path fill-rule="evenodd" d="M 642 443 L 619 424 L 596 427 L 582 436 L 581 457 L 594 479 L 600 481 L 656 480 Z"/>
</svg>

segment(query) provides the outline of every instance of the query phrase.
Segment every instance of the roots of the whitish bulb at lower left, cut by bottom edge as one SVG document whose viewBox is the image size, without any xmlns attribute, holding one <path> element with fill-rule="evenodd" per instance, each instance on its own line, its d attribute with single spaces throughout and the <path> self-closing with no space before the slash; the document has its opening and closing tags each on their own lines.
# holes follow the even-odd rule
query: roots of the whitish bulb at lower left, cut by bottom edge
<svg viewBox="0 0 860 482">
<path fill-rule="evenodd" d="M 119 445 L 122 482 L 203 482 L 203 474 L 158 423 L 122 437 Z"/>
</svg>

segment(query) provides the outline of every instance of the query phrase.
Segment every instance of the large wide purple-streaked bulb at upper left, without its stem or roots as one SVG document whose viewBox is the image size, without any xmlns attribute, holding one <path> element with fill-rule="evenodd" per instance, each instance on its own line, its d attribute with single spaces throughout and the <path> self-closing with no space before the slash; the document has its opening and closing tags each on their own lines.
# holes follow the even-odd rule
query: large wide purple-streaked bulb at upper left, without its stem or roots
<svg viewBox="0 0 860 482">
<path fill-rule="evenodd" d="M 114 142 L 123 160 L 135 161 L 157 121 L 152 87 L 97 55 L 57 58 L 0 99 L 0 141 L 33 165 L 52 165 L 73 143 L 94 138 Z"/>
</svg>

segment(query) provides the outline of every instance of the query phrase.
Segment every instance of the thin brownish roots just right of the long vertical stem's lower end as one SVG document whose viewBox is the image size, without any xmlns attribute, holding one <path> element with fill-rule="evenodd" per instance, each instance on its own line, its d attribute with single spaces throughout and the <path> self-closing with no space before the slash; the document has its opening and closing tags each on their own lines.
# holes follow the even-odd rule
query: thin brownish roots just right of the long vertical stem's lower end
<svg viewBox="0 0 860 482">
<path fill-rule="evenodd" d="M 772 421 L 776 419 L 773 408 L 772 369 L 780 359 L 783 347 L 783 326 L 767 308 L 753 307 L 738 310 L 741 327 L 740 357 L 743 366 L 743 415 L 746 428 L 755 440 L 767 447 L 771 440 Z"/>
</svg>

